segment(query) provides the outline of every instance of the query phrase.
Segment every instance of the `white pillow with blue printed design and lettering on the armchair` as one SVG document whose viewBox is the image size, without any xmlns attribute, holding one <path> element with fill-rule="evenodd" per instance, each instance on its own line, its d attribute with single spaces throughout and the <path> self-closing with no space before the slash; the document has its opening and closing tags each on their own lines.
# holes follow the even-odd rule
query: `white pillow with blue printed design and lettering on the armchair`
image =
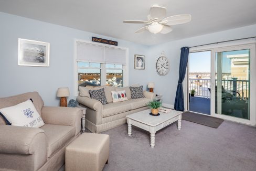
<svg viewBox="0 0 256 171">
<path fill-rule="evenodd" d="M 45 125 L 31 100 L 8 108 L 2 108 L 0 113 L 4 116 L 8 125 L 27 127 L 41 127 Z"/>
</svg>

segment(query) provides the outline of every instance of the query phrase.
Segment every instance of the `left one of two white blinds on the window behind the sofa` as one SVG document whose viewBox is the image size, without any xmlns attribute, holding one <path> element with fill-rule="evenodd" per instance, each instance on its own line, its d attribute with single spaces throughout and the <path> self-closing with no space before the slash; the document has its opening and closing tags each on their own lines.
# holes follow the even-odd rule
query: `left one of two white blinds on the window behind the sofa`
<svg viewBox="0 0 256 171">
<path fill-rule="evenodd" d="M 77 61 L 105 63 L 104 46 L 77 42 Z"/>
</svg>

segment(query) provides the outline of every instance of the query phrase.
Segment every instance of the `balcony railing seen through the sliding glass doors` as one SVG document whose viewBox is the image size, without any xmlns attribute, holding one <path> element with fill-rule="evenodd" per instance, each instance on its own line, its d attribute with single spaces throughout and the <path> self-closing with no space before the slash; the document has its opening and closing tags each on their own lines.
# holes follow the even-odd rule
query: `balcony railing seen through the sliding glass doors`
<svg viewBox="0 0 256 171">
<path fill-rule="evenodd" d="M 217 80 L 215 80 L 215 85 L 217 85 Z M 248 80 L 222 80 L 222 87 L 227 92 L 236 91 L 240 94 L 240 97 L 244 100 L 249 99 L 249 81 Z M 211 80 L 210 79 L 197 79 L 197 78 L 189 78 L 189 92 L 192 89 L 196 90 L 195 95 L 204 98 L 210 98 L 210 91 L 208 88 L 211 88 Z M 234 94 L 237 95 L 238 94 Z"/>
</svg>

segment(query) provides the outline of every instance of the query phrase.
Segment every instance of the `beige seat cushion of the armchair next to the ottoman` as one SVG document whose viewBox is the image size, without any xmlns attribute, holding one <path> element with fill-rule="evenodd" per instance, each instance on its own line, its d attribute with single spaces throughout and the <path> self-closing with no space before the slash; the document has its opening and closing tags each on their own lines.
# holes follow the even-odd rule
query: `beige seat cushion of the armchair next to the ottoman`
<svg viewBox="0 0 256 171">
<path fill-rule="evenodd" d="M 76 134 L 76 128 L 73 126 L 45 124 L 40 129 L 47 135 L 48 157 L 65 146 Z"/>
</svg>

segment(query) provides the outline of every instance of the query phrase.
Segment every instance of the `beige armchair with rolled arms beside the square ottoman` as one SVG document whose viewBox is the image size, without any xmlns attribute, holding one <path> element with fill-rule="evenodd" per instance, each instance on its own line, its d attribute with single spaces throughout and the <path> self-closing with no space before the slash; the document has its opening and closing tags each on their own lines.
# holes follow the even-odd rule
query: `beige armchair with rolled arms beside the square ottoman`
<svg viewBox="0 0 256 171">
<path fill-rule="evenodd" d="M 45 125 L 10 126 L 0 116 L 0 170 L 59 170 L 65 163 L 65 147 L 80 134 L 80 108 L 44 106 L 37 92 L 0 98 L 0 109 L 30 98 Z"/>
</svg>

